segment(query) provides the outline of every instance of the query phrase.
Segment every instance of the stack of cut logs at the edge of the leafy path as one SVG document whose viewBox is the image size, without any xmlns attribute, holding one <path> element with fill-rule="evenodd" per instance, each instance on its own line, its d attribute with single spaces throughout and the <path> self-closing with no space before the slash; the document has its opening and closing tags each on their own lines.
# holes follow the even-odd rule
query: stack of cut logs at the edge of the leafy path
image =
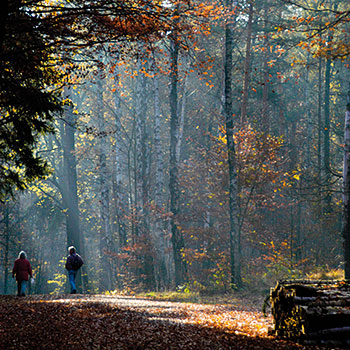
<svg viewBox="0 0 350 350">
<path fill-rule="evenodd" d="M 271 290 L 271 312 L 276 336 L 350 348 L 348 281 L 280 281 Z"/>
</svg>

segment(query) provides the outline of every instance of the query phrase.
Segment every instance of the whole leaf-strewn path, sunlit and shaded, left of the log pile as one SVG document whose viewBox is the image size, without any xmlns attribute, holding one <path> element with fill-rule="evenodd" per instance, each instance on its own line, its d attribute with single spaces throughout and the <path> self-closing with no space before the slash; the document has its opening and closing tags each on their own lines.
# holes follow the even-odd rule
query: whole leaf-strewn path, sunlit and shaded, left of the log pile
<svg viewBox="0 0 350 350">
<path fill-rule="evenodd" d="M 201 304 L 122 295 L 0 296 L 0 349 L 321 349 L 268 336 L 260 300 Z"/>
</svg>

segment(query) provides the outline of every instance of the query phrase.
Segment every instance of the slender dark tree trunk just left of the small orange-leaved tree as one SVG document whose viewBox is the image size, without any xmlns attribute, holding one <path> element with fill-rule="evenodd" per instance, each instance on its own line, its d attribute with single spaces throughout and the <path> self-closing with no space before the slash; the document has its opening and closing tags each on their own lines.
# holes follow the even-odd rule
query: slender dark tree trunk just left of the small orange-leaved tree
<svg viewBox="0 0 350 350">
<path fill-rule="evenodd" d="M 236 5 L 231 1 L 226 2 L 227 10 L 232 12 Z M 225 23 L 225 58 L 224 58 L 224 113 L 226 120 L 227 157 L 229 171 L 229 211 L 230 211 L 230 265 L 231 285 L 233 288 L 241 286 L 241 267 L 238 246 L 238 206 L 237 206 L 237 163 L 235 142 L 233 139 L 233 108 L 232 108 L 232 49 L 233 49 L 233 18 L 229 16 Z"/>
</svg>

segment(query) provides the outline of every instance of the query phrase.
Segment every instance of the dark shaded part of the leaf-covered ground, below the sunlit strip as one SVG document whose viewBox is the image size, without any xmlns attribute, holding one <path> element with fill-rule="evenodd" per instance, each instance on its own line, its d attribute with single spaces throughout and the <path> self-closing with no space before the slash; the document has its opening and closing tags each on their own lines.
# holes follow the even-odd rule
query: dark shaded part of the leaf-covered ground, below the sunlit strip
<svg viewBox="0 0 350 350">
<path fill-rule="evenodd" d="M 179 321 L 180 310 L 157 317 L 147 308 L 135 310 L 85 296 L 0 296 L 0 349 L 316 349 L 184 323 Z"/>
</svg>

